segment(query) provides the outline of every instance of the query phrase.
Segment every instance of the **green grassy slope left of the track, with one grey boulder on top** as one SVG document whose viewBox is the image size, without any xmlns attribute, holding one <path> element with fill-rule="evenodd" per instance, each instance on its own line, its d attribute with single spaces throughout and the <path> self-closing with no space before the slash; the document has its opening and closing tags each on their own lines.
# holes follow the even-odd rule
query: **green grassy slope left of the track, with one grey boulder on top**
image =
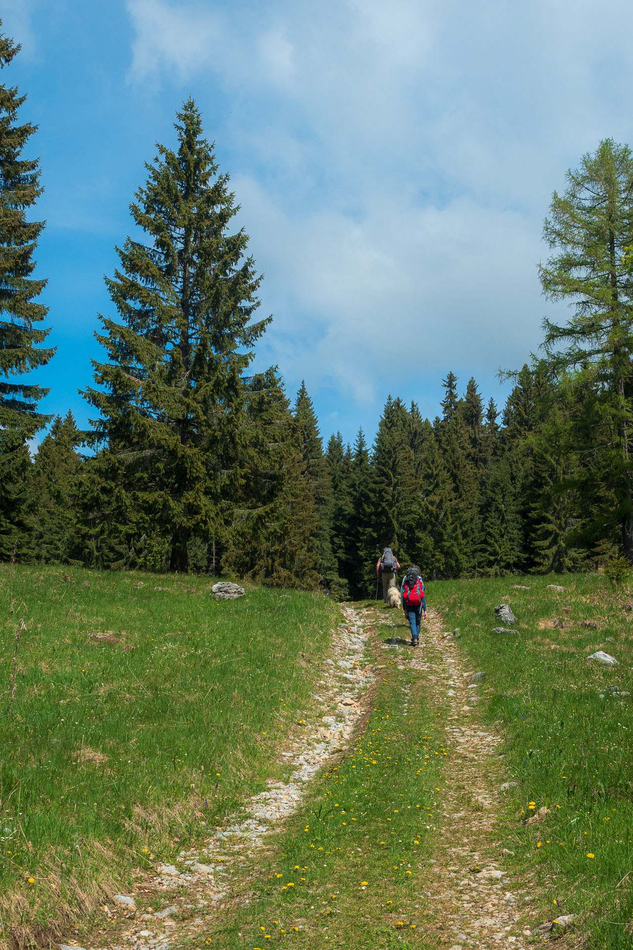
<svg viewBox="0 0 633 950">
<path fill-rule="evenodd" d="M 4 938 L 84 917 L 283 776 L 333 608 L 212 582 L 0 566 Z"/>
</svg>

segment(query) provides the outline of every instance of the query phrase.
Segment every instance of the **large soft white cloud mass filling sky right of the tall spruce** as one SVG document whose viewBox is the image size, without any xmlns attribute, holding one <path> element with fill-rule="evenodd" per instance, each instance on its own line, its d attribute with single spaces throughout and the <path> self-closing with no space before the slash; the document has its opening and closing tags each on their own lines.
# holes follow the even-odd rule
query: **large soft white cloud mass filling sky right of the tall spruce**
<svg viewBox="0 0 633 950">
<path fill-rule="evenodd" d="M 210 137 L 231 153 L 275 314 L 265 354 L 290 385 L 380 402 L 419 373 L 416 330 L 438 379 L 527 358 L 551 313 L 536 277 L 551 191 L 601 138 L 633 138 L 624 0 L 127 6 L 136 80 L 186 81 L 203 109 L 221 90 Z"/>
</svg>

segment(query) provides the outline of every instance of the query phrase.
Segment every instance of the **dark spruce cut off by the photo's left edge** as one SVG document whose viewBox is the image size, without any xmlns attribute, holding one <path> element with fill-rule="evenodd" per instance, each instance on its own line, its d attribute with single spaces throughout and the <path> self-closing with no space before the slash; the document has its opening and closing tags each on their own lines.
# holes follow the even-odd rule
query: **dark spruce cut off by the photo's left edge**
<svg viewBox="0 0 633 950">
<path fill-rule="evenodd" d="M 2 21 L 0 21 L 0 26 Z M 0 67 L 20 47 L 0 35 Z M 27 555 L 36 499 L 30 485 L 28 440 L 48 416 L 38 403 L 48 390 L 22 381 L 44 366 L 54 350 L 40 346 L 49 333 L 39 324 L 47 307 L 36 303 L 46 280 L 32 277 L 33 254 L 44 221 L 28 221 L 28 209 L 42 194 L 39 161 L 22 153 L 37 126 L 20 123 L 26 100 L 17 86 L 0 85 L 0 558 Z M 20 380 L 20 381 L 17 381 Z"/>
</svg>

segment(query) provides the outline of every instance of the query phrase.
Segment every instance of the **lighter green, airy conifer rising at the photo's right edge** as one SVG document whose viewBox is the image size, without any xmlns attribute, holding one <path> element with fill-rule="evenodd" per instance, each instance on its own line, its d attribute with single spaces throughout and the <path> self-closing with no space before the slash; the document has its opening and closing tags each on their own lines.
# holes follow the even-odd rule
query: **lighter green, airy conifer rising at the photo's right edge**
<svg viewBox="0 0 633 950">
<path fill-rule="evenodd" d="M 601 481 L 618 523 L 624 555 L 633 560 L 633 153 L 611 139 L 569 170 L 563 195 L 554 192 L 545 221 L 550 251 L 540 268 L 544 294 L 568 300 L 573 315 L 545 321 L 545 352 L 554 376 L 594 393 L 580 428 L 591 428 L 602 451 Z"/>
</svg>

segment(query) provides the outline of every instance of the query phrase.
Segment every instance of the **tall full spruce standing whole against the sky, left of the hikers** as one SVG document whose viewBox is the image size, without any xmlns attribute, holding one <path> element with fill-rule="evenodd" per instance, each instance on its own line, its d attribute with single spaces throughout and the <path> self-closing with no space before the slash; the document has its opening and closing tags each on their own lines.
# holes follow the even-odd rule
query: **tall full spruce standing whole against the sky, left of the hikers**
<svg viewBox="0 0 633 950">
<path fill-rule="evenodd" d="M 158 561 L 187 570 L 192 539 L 223 538 L 232 522 L 248 429 L 242 377 L 269 320 L 251 323 L 261 277 L 244 230 L 230 233 L 238 206 L 192 100 L 175 127 L 177 150 L 157 146 L 130 205 L 149 243 L 128 237 L 106 280 L 121 322 L 102 317 L 108 361 L 94 362 L 101 389 L 84 393 L 100 411 L 102 449 L 86 510 L 105 558 L 129 562 L 149 538 Z"/>
</svg>

